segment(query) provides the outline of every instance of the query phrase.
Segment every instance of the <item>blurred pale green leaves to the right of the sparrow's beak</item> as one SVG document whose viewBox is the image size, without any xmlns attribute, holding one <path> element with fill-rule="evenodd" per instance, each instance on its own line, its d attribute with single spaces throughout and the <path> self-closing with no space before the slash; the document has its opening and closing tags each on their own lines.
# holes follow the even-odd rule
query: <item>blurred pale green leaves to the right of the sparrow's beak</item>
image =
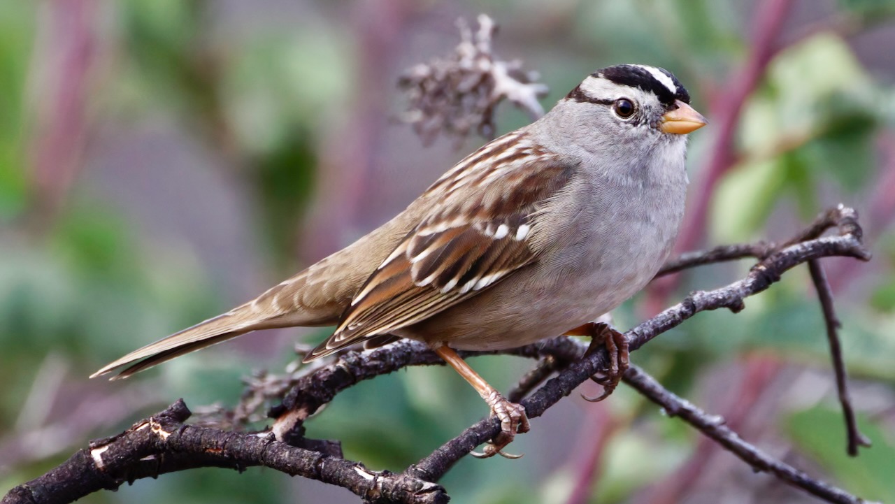
<svg viewBox="0 0 895 504">
<path fill-rule="evenodd" d="M 713 233 L 722 241 L 754 235 L 784 189 L 802 218 L 814 217 L 822 170 L 849 192 L 864 187 L 874 173 L 872 133 L 882 120 L 882 96 L 835 35 L 818 34 L 780 53 L 746 103 L 739 129 L 745 156 L 713 200 Z"/>
</svg>

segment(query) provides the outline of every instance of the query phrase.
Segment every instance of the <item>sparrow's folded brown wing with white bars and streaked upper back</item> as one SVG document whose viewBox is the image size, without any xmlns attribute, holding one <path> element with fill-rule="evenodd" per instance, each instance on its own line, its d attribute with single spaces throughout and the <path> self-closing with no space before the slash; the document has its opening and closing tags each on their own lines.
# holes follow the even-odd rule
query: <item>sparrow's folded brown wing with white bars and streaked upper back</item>
<svg viewBox="0 0 895 504">
<path fill-rule="evenodd" d="M 305 361 L 427 319 L 537 260 L 531 243 L 541 231 L 533 214 L 568 183 L 574 167 L 516 144 L 518 151 L 502 150 L 502 159 L 473 153 L 461 161 L 467 169 L 455 168 L 430 187 L 423 196 L 431 201 L 429 214 L 354 295 L 335 334 Z"/>
</svg>

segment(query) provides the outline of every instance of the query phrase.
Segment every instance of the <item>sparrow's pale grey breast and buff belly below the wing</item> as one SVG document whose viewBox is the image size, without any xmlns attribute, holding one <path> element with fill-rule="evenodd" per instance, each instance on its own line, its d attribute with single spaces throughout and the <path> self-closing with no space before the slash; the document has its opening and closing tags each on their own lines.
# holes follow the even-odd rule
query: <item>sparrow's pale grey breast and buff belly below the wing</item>
<svg viewBox="0 0 895 504">
<path fill-rule="evenodd" d="M 685 190 L 682 180 L 626 198 L 595 198 L 567 219 L 563 246 L 544 253 L 528 271 L 396 334 L 461 350 L 499 350 L 595 320 L 661 268 L 678 235 Z"/>
</svg>

